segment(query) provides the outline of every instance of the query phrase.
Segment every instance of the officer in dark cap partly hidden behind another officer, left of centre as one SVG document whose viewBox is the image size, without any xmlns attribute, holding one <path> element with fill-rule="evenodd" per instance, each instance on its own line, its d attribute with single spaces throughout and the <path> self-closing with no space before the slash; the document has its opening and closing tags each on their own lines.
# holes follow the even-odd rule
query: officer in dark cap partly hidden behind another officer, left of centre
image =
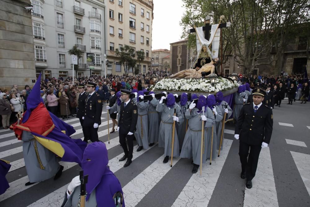
<svg viewBox="0 0 310 207">
<path fill-rule="evenodd" d="M 77 118 L 80 119 L 80 123 L 82 126 L 82 131 L 83 131 L 83 135 L 84 135 L 84 142 L 88 142 L 88 133 L 85 133 L 85 128 L 83 127 L 83 115 L 85 114 L 85 100 L 87 97 L 87 94 L 85 92 L 85 88 L 84 88 L 84 84 L 79 83 L 78 84 L 78 91 L 80 92 L 79 96 L 78 96 L 78 113 L 77 113 Z"/>
</svg>

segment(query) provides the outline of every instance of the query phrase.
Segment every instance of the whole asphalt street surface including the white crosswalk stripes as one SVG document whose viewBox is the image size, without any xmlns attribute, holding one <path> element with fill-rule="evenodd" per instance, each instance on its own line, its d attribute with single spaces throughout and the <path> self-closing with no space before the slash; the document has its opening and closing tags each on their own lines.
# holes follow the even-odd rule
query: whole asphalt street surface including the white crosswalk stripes
<svg viewBox="0 0 310 207">
<path fill-rule="evenodd" d="M 224 149 L 212 165 L 192 174 L 191 160 L 174 158 L 173 167 L 163 164 L 164 149 L 155 145 L 135 152 L 132 164 L 123 168 L 118 133 L 110 134 L 109 166 L 120 180 L 126 206 L 310 206 L 310 103 L 286 105 L 273 109 L 273 132 L 268 148 L 262 149 L 253 187 L 245 188 L 240 178 L 239 142 L 233 139 L 234 126 L 226 124 Z M 102 123 L 107 121 L 102 114 Z M 69 119 L 76 130 L 73 138 L 83 137 L 78 119 Z M 111 124 L 111 122 L 110 122 Z M 308 127 L 307 127 L 308 126 Z M 100 140 L 108 141 L 107 125 L 98 130 Z M 28 182 L 23 163 L 22 142 L 11 131 L 0 130 L 0 159 L 11 161 L 7 174 L 10 188 L 0 195 L 0 206 L 60 206 L 68 183 L 78 175 L 79 166 L 62 163 L 60 179 L 52 178 L 25 187 Z"/>
</svg>

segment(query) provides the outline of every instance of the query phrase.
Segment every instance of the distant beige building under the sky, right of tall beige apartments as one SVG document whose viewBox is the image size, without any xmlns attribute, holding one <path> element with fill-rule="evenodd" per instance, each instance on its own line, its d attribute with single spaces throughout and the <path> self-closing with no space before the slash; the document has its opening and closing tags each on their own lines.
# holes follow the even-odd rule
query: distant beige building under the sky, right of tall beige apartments
<svg viewBox="0 0 310 207">
<path fill-rule="evenodd" d="M 169 54 L 167 49 L 152 50 L 151 70 L 169 70 Z"/>
</svg>

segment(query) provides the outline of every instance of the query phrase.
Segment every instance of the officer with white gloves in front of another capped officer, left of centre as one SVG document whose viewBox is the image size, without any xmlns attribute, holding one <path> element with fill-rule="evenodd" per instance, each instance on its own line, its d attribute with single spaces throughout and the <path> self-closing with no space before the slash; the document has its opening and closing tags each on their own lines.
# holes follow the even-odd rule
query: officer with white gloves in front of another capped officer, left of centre
<svg viewBox="0 0 310 207">
<path fill-rule="evenodd" d="M 96 83 L 87 82 L 88 95 L 85 100 L 85 111 L 82 117 L 85 131 L 89 133 L 91 142 L 99 142 L 98 126 L 101 124 L 102 100 L 95 91 Z"/>
</svg>

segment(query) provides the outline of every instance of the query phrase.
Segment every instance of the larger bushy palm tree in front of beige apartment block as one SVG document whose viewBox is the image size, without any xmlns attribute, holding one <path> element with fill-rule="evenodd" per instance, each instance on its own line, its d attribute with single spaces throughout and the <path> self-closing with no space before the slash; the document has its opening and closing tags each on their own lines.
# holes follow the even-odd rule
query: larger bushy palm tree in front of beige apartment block
<svg viewBox="0 0 310 207">
<path fill-rule="evenodd" d="M 115 50 L 115 55 L 121 58 L 120 62 L 124 66 L 125 74 L 128 75 L 128 68 L 132 67 L 133 65 L 133 58 L 135 57 L 135 50 L 129 45 L 124 45 Z M 134 66 L 135 65 L 133 65 L 132 68 L 134 68 Z M 132 74 L 134 74 L 133 70 L 132 70 Z"/>
</svg>

